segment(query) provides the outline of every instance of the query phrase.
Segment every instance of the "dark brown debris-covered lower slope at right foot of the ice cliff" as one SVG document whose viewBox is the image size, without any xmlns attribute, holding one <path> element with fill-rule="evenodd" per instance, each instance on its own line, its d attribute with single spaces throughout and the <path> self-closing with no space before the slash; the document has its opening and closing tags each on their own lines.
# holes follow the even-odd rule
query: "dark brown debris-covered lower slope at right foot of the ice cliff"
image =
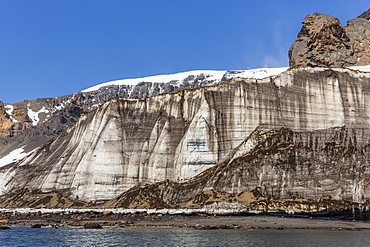
<svg viewBox="0 0 370 247">
<path fill-rule="evenodd" d="M 262 140 L 185 183 L 166 181 L 135 187 L 106 207 L 227 207 L 267 212 L 368 208 L 369 133 L 331 128 L 295 132 L 256 131 Z M 155 195 L 155 196 L 151 196 Z M 225 205 L 222 205 L 225 204 Z M 243 207 L 244 206 L 244 207 Z"/>
</svg>

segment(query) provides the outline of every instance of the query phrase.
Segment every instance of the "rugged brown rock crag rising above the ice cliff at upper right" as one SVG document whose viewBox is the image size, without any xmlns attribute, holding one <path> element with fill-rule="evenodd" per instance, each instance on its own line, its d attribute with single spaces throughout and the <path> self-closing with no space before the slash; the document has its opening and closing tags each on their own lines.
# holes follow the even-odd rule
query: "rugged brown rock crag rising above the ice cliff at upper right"
<svg viewBox="0 0 370 247">
<path fill-rule="evenodd" d="M 333 16 L 313 13 L 289 49 L 290 66 L 347 67 L 370 64 L 370 11 L 342 26 Z"/>
</svg>

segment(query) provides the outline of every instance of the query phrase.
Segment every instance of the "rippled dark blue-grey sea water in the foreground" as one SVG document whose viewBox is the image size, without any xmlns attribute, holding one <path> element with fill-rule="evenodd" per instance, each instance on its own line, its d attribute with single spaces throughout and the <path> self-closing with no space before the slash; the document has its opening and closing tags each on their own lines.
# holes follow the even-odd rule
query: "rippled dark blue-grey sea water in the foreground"
<svg viewBox="0 0 370 247">
<path fill-rule="evenodd" d="M 370 246 L 370 231 L 13 226 L 0 246 Z"/>
</svg>

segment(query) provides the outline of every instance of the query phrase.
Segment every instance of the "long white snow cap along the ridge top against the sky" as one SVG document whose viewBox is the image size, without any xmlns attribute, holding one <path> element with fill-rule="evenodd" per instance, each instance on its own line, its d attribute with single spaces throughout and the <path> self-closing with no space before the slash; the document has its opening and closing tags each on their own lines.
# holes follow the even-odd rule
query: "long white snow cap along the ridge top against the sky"
<svg viewBox="0 0 370 247">
<path fill-rule="evenodd" d="M 141 78 L 132 78 L 132 79 L 122 79 L 109 81 L 96 86 L 87 88 L 82 92 L 91 92 L 99 90 L 102 87 L 112 86 L 112 85 L 128 85 L 136 86 L 141 82 L 151 82 L 151 83 L 181 83 L 185 79 L 188 79 L 190 76 L 200 76 L 203 75 L 206 81 L 213 81 L 214 83 L 221 82 L 222 78 L 233 78 L 233 77 L 242 77 L 242 78 L 257 78 L 262 79 L 268 76 L 277 75 L 281 72 L 284 72 L 288 67 L 282 68 L 261 68 L 261 69 L 251 69 L 251 70 L 236 70 L 236 71 L 226 71 L 226 70 L 193 70 L 187 72 L 180 72 L 175 74 L 166 74 L 166 75 L 154 75 Z"/>
</svg>

